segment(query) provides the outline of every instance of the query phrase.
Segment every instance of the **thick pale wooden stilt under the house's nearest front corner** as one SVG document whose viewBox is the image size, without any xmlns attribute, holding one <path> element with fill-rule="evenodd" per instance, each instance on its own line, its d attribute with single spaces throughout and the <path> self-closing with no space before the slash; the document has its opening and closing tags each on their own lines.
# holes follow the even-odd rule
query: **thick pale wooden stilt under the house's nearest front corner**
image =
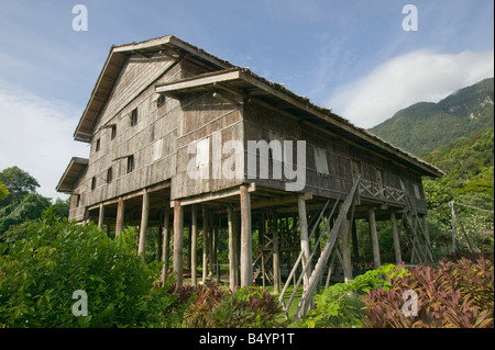
<svg viewBox="0 0 495 350">
<path fill-rule="evenodd" d="M 241 184 L 241 286 L 253 284 L 251 238 L 251 196 L 249 184 Z"/>
</svg>

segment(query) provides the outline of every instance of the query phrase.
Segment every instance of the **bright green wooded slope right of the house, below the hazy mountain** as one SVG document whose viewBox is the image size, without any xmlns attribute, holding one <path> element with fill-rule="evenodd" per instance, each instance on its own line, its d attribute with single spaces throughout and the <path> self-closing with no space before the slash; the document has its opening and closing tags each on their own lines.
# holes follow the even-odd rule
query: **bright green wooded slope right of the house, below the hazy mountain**
<svg viewBox="0 0 495 350">
<path fill-rule="evenodd" d="M 422 181 L 429 213 L 428 224 L 436 250 L 440 255 L 444 253 L 441 252 L 441 241 L 446 238 L 450 240 L 450 202 L 453 201 L 473 247 L 477 251 L 493 253 L 493 127 L 470 137 L 461 137 L 421 158 L 446 171 L 441 179 L 425 178 Z M 458 248 L 468 249 L 468 241 L 459 227 L 455 237 Z"/>
</svg>

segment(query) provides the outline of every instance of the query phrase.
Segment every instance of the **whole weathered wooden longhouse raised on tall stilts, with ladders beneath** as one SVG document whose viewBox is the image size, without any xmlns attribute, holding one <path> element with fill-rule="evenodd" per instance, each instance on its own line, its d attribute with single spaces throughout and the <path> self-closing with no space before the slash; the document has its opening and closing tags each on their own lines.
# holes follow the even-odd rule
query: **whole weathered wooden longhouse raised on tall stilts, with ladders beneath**
<svg viewBox="0 0 495 350">
<path fill-rule="evenodd" d="M 377 221 L 392 223 L 397 262 L 432 260 L 421 177 L 441 170 L 177 37 L 112 46 L 74 138 L 91 148 L 57 185 L 72 194 L 69 219 L 116 235 L 139 226 L 140 255 L 160 227 L 177 287 L 185 262 L 194 284 L 212 278 L 222 229 L 230 286 L 272 284 L 286 305 L 283 286 L 301 284 L 300 315 L 330 261 L 352 279 L 358 219 L 375 267 Z"/>
</svg>

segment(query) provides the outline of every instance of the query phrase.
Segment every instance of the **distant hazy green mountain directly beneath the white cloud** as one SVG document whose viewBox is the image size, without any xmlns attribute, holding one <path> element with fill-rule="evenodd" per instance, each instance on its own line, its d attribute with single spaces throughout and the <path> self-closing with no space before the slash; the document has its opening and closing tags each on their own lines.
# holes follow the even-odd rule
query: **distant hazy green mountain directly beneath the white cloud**
<svg viewBox="0 0 495 350">
<path fill-rule="evenodd" d="M 458 90 L 438 103 L 419 102 L 370 132 L 415 155 L 494 126 L 494 78 Z"/>
</svg>

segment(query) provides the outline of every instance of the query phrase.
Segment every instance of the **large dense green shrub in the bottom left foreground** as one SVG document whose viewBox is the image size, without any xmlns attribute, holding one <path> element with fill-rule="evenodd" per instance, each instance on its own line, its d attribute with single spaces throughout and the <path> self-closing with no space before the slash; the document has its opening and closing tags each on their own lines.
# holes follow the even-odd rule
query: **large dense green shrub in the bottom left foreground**
<svg viewBox="0 0 495 350">
<path fill-rule="evenodd" d="M 160 266 L 136 256 L 133 237 L 128 229 L 112 239 L 45 212 L 25 239 L 0 245 L 0 327 L 173 326 L 176 296 L 156 287 Z M 87 293 L 88 316 L 73 315 L 77 290 Z"/>
</svg>

